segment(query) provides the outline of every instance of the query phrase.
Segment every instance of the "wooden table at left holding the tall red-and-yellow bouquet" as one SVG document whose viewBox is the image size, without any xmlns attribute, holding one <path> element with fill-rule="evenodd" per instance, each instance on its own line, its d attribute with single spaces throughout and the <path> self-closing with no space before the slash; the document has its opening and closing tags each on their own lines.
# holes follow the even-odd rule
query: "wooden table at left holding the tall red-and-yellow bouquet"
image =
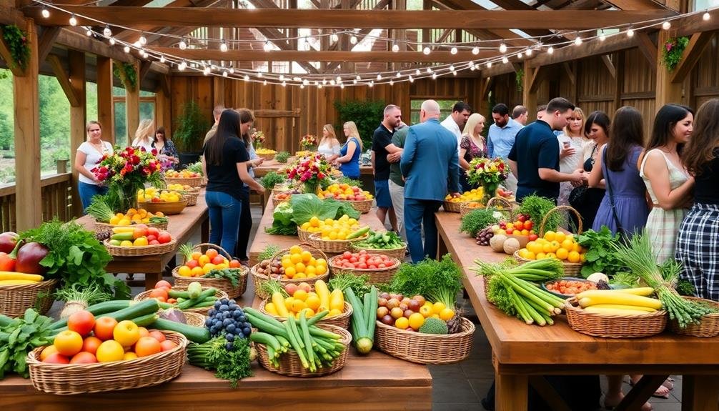
<svg viewBox="0 0 719 411">
<path fill-rule="evenodd" d="M 210 222 L 207 205 L 205 203 L 205 190 L 202 190 L 197 197 L 197 204 L 186 207 L 182 213 L 168 216 L 168 232 L 177 239 L 175 249 L 165 254 L 157 254 L 143 257 L 112 257 L 112 260 L 105 267 L 106 272 L 113 274 L 126 272 L 128 274 L 145 273 L 145 288 L 152 289 L 155 283 L 162 279 L 162 272 L 168 262 L 175 257 L 180 244 L 185 244 L 195 233 L 197 228 L 201 229 L 201 241 L 209 239 Z M 94 221 L 90 216 L 83 216 L 76 220 L 85 226 L 89 231 L 94 231 Z"/>
</svg>

